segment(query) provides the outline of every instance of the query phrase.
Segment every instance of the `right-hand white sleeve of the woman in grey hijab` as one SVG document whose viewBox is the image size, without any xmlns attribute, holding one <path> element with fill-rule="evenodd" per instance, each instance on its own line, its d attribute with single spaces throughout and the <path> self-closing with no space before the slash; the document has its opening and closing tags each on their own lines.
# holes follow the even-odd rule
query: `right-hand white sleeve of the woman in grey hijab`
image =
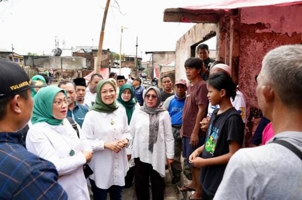
<svg viewBox="0 0 302 200">
<path fill-rule="evenodd" d="M 166 143 L 166 156 L 169 159 L 174 158 L 174 137 L 172 133 L 171 118 L 168 111 L 163 112 L 164 135 Z"/>
</svg>

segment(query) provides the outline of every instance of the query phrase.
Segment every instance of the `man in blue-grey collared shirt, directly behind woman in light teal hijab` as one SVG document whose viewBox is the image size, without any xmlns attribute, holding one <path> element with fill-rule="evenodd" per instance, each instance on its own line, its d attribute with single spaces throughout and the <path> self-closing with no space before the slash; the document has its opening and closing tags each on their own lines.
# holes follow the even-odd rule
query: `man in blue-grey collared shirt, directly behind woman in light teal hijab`
<svg viewBox="0 0 302 200">
<path fill-rule="evenodd" d="M 86 113 L 88 112 L 88 108 L 86 106 L 83 106 L 75 102 L 75 99 L 77 98 L 77 93 L 75 93 L 76 86 L 74 82 L 71 82 L 69 80 L 61 80 L 58 84 L 58 87 L 65 89 L 67 92 L 67 96 L 68 96 L 67 118 L 72 118 L 82 128 L 82 124 L 84 122 Z"/>
</svg>

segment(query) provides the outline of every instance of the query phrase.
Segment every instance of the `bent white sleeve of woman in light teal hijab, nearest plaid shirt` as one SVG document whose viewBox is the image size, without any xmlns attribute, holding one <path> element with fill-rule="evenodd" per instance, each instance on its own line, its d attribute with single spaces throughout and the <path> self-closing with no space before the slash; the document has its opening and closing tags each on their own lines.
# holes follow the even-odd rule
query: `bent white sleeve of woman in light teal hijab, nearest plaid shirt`
<svg viewBox="0 0 302 200">
<path fill-rule="evenodd" d="M 85 155 L 82 152 L 67 158 L 60 158 L 47 136 L 41 131 L 29 130 L 26 137 L 26 144 L 28 145 L 28 143 L 31 143 L 31 148 L 34 148 L 38 156 L 55 165 L 59 176 L 70 174 L 86 163 Z"/>
</svg>

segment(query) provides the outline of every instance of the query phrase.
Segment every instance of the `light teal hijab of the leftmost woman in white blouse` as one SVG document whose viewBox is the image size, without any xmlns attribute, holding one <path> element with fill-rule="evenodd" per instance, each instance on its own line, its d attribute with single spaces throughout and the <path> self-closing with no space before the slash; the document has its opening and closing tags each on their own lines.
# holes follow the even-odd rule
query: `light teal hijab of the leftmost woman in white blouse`
<svg viewBox="0 0 302 200">
<path fill-rule="evenodd" d="M 57 86 L 50 85 L 42 87 L 37 92 L 34 98 L 34 109 L 31 122 L 36 124 L 38 122 L 47 122 L 50 125 L 62 124 L 63 120 L 58 120 L 53 117 L 52 104 L 53 99 L 59 92 L 63 92 L 67 97 L 66 91 Z"/>
</svg>

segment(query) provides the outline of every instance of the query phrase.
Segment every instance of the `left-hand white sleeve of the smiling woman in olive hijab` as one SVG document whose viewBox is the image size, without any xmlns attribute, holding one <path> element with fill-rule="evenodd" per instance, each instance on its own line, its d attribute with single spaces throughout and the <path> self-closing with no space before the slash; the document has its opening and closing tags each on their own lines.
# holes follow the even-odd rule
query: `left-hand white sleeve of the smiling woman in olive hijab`
<svg viewBox="0 0 302 200">
<path fill-rule="evenodd" d="M 96 151 L 102 151 L 105 149 L 104 145 L 105 145 L 105 141 L 104 140 L 100 140 L 100 139 L 96 139 L 94 137 L 94 119 L 93 116 L 90 114 L 90 112 L 88 112 L 85 116 L 83 125 L 82 125 L 82 131 L 83 134 L 85 135 L 87 141 L 89 142 L 92 150 L 94 152 Z"/>
</svg>

